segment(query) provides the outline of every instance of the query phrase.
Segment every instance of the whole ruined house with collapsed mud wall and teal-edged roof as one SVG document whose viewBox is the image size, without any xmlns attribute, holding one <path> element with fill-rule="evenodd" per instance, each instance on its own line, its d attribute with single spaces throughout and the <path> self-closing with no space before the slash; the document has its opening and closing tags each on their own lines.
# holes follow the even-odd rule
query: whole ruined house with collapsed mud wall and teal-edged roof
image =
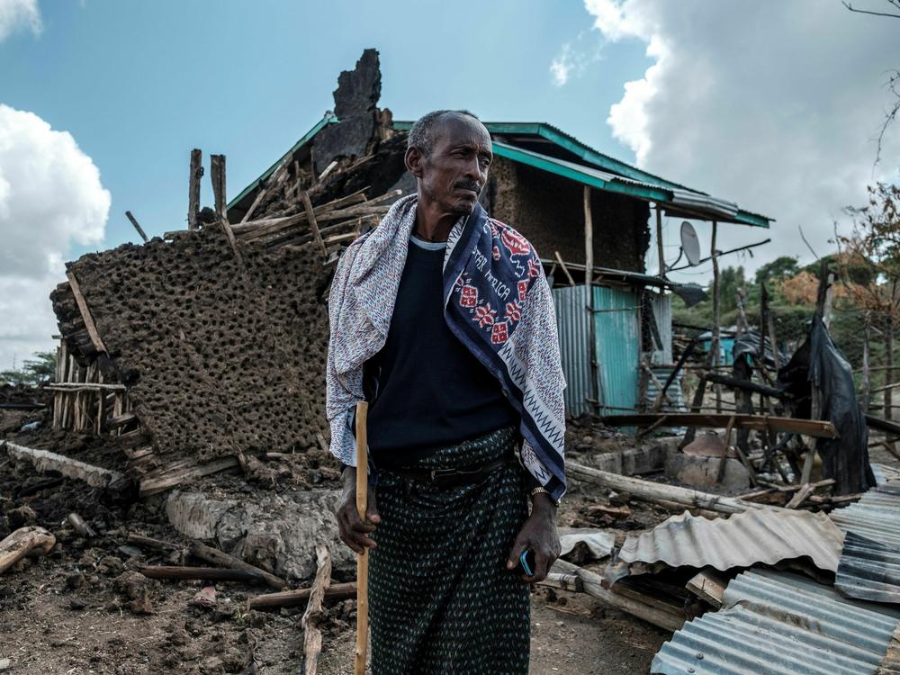
<svg viewBox="0 0 900 675">
<path fill-rule="evenodd" d="M 51 295 L 61 336 L 53 426 L 111 433 L 141 494 L 232 468 L 269 480 L 260 458 L 272 454 L 309 456 L 320 473 L 334 266 L 415 189 L 403 161 L 410 122 L 376 107 L 380 91 L 377 52 L 366 50 L 339 76 L 334 112 L 231 202 L 225 157 L 213 155 L 215 208 L 200 208 L 194 150 L 188 229 L 67 264 Z M 769 220 L 547 124 L 487 127 L 496 161 L 482 200 L 543 257 L 568 411 L 639 408 L 672 360 L 671 284 L 644 271 L 651 205 L 657 225 L 663 213 Z"/>
</svg>

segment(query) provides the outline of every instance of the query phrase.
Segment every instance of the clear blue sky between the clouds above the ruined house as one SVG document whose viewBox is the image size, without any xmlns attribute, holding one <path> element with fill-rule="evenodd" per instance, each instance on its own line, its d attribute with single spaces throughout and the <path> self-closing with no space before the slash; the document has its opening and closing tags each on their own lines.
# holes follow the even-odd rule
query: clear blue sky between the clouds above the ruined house
<svg viewBox="0 0 900 675">
<path fill-rule="evenodd" d="M 229 198 L 332 106 L 341 70 L 381 53 L 381 105 L 397 119 L 465 107 L 483 119 L 550 121 L 634 159 L 605 124 L 649 61 L 638 40 L 563 87 L 549 65 L 590 42 L 580 2 L 100 2 L 42 4 L 39 36 L 0 44 L 0 103 L 67 130 L 112 193 L 112 247 L 185 227 L 191 148 L 228 157 Z M 205 159 L 208 163 L 208 157 Z M 202 201 L 211 202 L 209 183 Z M 95 249 L 75 246 L 71 255 Z"/>
</svg>

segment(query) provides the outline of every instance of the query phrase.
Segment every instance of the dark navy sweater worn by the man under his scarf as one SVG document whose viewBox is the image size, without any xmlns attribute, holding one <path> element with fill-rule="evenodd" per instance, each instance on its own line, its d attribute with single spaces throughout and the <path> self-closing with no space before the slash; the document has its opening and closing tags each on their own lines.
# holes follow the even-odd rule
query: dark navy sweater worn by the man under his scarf
<svg viewBox="0 0 900 675">
<path fill-rule="evenodd" d="M 439 447 L 519 425 L 500 382 L 447 328 L 445 247 L 410 239 L 387 341 L 365 364 L 376 467 L 410 464 Z"/>
</svg>

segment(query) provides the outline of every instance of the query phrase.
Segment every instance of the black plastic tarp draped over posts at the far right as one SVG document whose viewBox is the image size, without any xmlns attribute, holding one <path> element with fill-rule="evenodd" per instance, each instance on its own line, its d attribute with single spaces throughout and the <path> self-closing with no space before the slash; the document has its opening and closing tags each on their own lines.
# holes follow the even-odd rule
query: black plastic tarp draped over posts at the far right
<svg viewBox="0 0 900 675">
<path fill-rule="evenodd" d="M 835 494 L 864 492 L 875 486 L 869 464 L 869 428 L 856 397 L 853 369 L 815 316 L 809 335 L 779 371 L 779 385 L 794 397 L 793 417 L 811 418 L 813 385 L 822 395 L 819 418 L 830 421 L 837 438 L 819 438 L 824 478 L 833 478 Z"/>
</svg>

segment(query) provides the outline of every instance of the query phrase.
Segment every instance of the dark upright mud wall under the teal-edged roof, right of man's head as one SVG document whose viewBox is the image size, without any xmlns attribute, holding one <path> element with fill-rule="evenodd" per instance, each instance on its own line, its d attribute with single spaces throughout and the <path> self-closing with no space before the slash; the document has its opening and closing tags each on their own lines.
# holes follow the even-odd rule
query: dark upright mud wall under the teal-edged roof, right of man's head
<svg viewBox="0 0 900 675">
<path fill-rule="evenodd" d="M 583 185 L 532 166 L 494 157 L 483 202 L 494 218 L 507 222 L 547 259 L 584 264 Z M 594 265 L 644 272 L 650 244 L 647 202 L 594 190 Z"/>
</svg>

